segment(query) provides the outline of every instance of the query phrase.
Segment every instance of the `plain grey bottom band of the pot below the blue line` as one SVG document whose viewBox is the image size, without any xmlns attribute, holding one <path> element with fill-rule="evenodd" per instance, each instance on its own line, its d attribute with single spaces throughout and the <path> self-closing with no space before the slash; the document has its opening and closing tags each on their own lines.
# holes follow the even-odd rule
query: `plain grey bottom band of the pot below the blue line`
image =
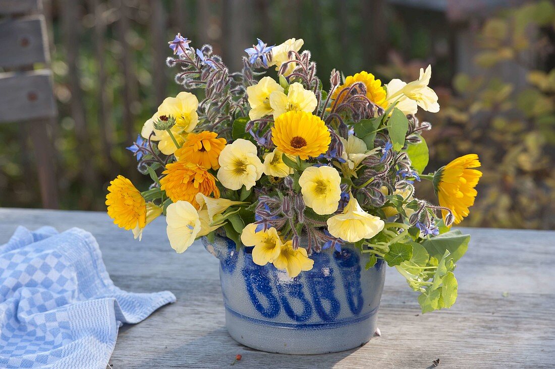
<svg viewBox="0 0 555 369">
<path fill-rule="evenodd" d="M 376 331 L 377 309 L 370 314 L 329 323 L 281 323 L 241 315 L 229 308 L 225 323 L 237 342 L 256 350 L 314 355 L 360 347 Z"/>
</svg>

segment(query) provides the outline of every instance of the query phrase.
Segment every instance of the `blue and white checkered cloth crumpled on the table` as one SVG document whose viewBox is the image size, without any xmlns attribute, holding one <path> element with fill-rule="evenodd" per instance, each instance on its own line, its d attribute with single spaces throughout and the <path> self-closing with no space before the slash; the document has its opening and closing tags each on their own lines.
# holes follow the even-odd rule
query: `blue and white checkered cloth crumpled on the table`
<svg viewBox="0 0 555 369">
<path fill-rule="evenodd" d="M 19 227 L 0 245 L 0 368 L 105 369 L 119 326 L 174 301 L 114 286 L 87 231 Z"/>
</svg>

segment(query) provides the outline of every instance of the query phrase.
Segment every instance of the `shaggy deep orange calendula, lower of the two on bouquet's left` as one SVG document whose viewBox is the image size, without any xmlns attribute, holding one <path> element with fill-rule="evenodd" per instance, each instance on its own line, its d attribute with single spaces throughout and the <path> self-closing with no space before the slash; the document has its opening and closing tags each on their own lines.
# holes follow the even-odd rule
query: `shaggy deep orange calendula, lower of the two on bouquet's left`
<svg viewBox="0 0 555 369">
<path fill-rule="evenodd" d="M 199 209 L 195 196 L 201 193 L 206 196 L 220 197 L 220 190 L 216 187 L 216 178 L 203 167 L 188 161 L 176 161 L 166 164 L 165 176 L 160 179 L 160 188 L 176 203 L 179 200 L 188 201 Z"/>
</svg>

